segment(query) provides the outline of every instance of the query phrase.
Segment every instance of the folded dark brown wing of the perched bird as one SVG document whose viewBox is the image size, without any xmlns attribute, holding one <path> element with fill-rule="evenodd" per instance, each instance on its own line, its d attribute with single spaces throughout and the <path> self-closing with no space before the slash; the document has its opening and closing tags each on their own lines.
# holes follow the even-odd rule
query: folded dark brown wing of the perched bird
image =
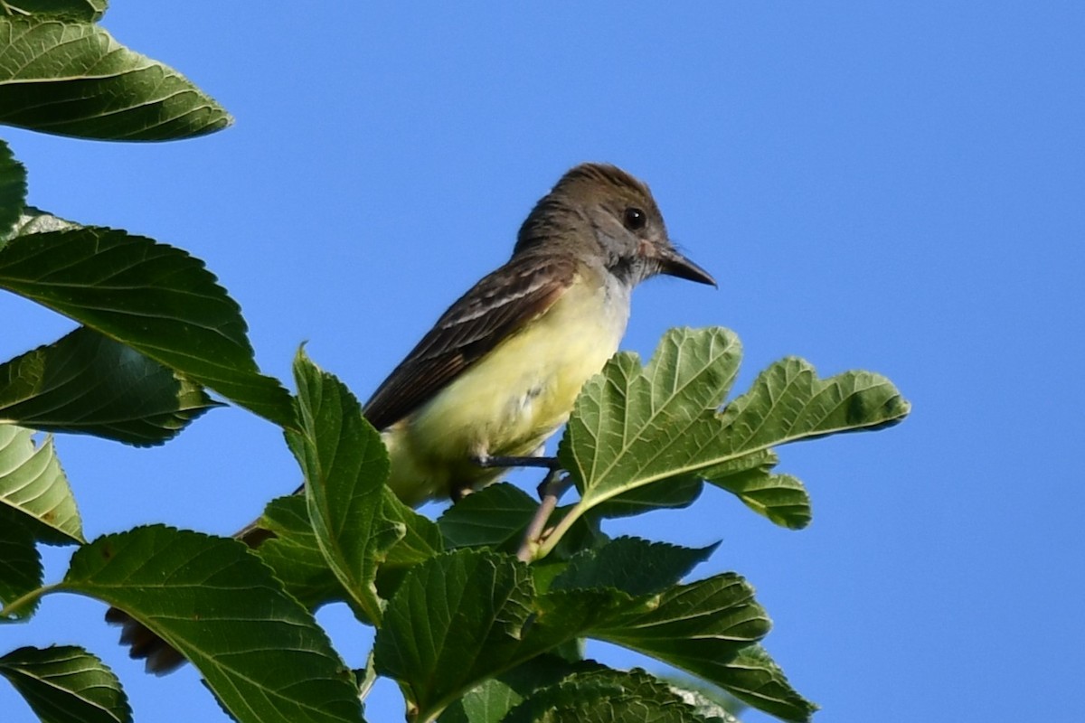
<svg viewBox="0 0 1085 723">
<path fill-rule="evenodd" d="M 366 402 L 366 418 L 385 429 L 413 412 L 502 339 L 546 312 L 575 276 L 573 259 L 526 254 L 483 277 L 378 387 Z"/>
</svg>

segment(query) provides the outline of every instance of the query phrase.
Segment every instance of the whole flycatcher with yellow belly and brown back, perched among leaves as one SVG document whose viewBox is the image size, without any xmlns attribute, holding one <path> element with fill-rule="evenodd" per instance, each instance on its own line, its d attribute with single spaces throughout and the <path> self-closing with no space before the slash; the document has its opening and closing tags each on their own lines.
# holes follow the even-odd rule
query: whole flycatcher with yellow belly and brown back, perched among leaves
<svg viewBox="0 0 1085 723">
<path fill-rule="evenodd" d="M 509 467 L 542 457 L 584 384 L 618 349 L 630 294 L 665 274 L 716 285 L 678 251 L 648 185 L 621 168 L 580 164 L 542 196 L 512 255 L 457 299 L 362 405 L 388 451 L 388 486 L 406 504 L 454 502 Z M 250 546 L 270 537 L 257 524 Z M 122 642 L 150 672 L 184 661 L 122 610 Z"/>
</svg>

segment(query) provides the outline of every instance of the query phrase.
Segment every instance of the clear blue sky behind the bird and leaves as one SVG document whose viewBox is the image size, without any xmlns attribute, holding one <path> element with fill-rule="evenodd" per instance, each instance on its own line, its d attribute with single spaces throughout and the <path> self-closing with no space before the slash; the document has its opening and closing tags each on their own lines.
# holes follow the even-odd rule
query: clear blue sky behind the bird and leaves
<svg viewBox="0 0 1085 723">
<path fill-rule="evenodd" d="M 753 582 L 815 720 L 1081 720 L 1085 4 L 658 5 L 115 0 L 103 25 L 235 126 L 144 145 L 0 132 L 33 204 L 188 249 L 242 305 L 265 372 L 289 379 L 307 340 L 361 398 L 562 172 L 626 168 L 719 289 L 649 282 L 624 348 L 725 325 L 739 391 L 796 354 L 881 372 L 914 411 L 781 449 L 807 530 L 715 490 L 609 529 L 723 540 L 694 576 Z M 0 314 L 2 359 L 73 326 L 11 296 Z M 89 538 L 227 534 L 299 479 L 277 429 L 237 409 L 157 449 L 58 446 Z M 103 612 L 47 597 L 0 649 L 84 645 L 137 721 L 226 720 L 191 667 L 144 675 Z M 360 664 L 366 630 L 342 607 L 320 619 Z M 397 699 L 382 685 L 369 720 L 401 720 Z M 4 685 L 0 719 L 33 720 Z"/>
</svg>

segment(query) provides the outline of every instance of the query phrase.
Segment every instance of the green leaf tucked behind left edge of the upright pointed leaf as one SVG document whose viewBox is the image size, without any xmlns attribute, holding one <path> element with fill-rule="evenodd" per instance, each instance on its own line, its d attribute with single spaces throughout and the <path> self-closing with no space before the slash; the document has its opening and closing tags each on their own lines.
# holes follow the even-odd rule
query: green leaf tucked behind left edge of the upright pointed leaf
<svg viewBox="0 0 1085 723">
<path fill-rule="evenodd" d="M 346 599 L 346 591 L 320 552 L 305 496 L 290 494 L 272 500 L 264 508 L 259 526 L 275 537 L 255 552 L 275 570 L 288 593 L 310 610 Z"/>
</svg>

